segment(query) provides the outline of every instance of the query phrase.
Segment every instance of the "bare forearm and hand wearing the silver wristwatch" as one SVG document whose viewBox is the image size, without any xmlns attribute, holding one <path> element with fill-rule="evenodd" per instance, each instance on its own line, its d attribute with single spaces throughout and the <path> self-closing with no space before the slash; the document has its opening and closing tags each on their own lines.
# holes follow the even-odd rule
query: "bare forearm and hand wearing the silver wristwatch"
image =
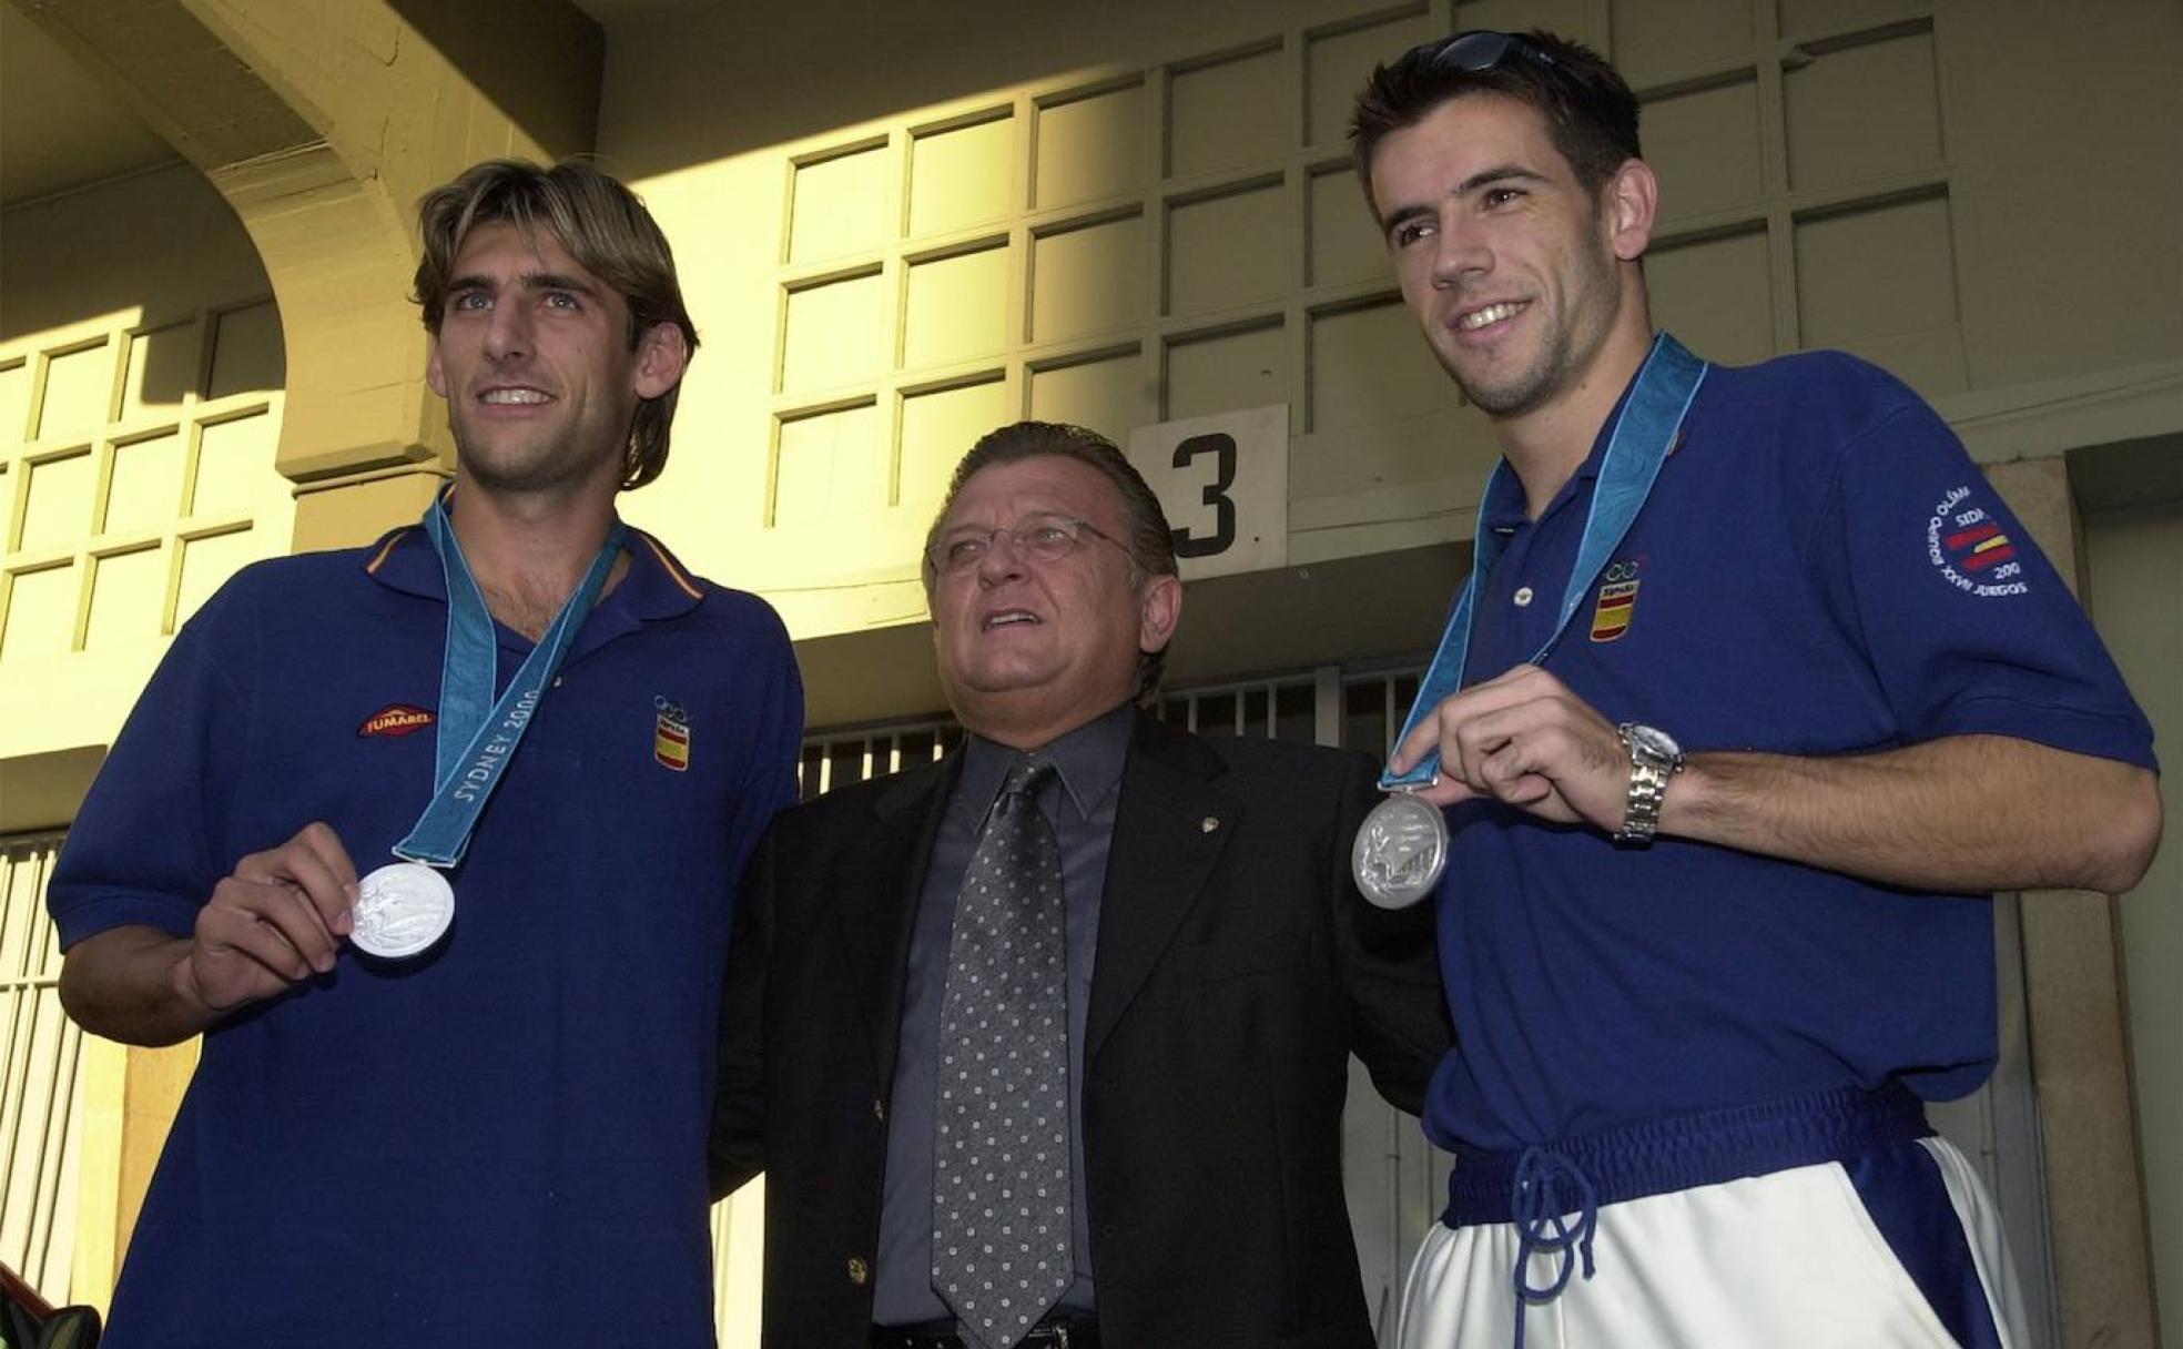
<svg viewBox="0 0 2183 1349">
<path fill-rule="evenodd" d="M 1428 801 L 1493 797 L 1556 823 L 1622 825 L 1629 751 L 1537 666 L 1443 701 L 1395 764 L 1434 744 Z M 1919 891 L 2115 895 L 2152 862 L 2161 803 L 2135 764 L 1949 736 L 1869 755 L 1696 753 L 1668 784 L 1659 832 Z"/>
</svg>

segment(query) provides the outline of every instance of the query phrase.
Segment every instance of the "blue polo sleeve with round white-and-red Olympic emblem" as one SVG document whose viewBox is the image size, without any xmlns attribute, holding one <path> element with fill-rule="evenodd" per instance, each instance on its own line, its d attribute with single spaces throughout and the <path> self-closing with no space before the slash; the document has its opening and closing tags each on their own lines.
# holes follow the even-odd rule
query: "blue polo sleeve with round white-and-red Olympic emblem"
<svg viewBox="0 0 2183 1349">
<path fill-rule="evenodd" d="M 1904 742 L 2013 736 L 2152 768 L 2152 727 L 2091 620 L 1908 389 L 1845 447 L 1810 557 Z"/>
</svg>

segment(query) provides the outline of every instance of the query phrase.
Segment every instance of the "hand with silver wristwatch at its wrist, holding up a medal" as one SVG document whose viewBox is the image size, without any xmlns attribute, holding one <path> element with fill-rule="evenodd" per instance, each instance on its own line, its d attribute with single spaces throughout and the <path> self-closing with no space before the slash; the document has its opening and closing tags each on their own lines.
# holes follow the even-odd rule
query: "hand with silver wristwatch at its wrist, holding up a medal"
<svg viewBox="0 0 2183 1349">
<path fill-rule="evenodd" d="M 1395 747 L 1397 773 L 1441 751 L 1441 781 L 1417 795 L 1434 805 L 1489 797 L 1563 825 L 1622 827 L 1631 755 L 1613 723 L 1539 666 L 1443 699 Z"/>
</svg>

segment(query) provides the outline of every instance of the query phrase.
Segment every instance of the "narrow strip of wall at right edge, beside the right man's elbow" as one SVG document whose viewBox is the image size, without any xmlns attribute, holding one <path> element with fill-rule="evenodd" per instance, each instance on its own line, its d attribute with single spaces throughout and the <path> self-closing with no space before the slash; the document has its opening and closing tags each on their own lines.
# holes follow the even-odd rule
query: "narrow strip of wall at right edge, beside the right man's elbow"
<svg viewBox="0 0 2183 1349">
<path fill-rule="evenodd" d="M 2170 760 L 2161 779 L 2170 845 L 2144 884 L 2120 899 L 2118 939 L 2159 1327 L 2163 1342 L 2183 1345 L 2183 982 L 2176 980 L 2183 969 L 2183 847 L 2174 845 L 2183 829 L 2183 786 L 2174 771 L 2183 744 L 2183 679 L 2176 677 L 2183 670 L 2183 609 L 2172 585 L 2174 559 L 2183 554 L 2183 504 L 2170 500 L 2091 515 L 2085 552 L 2093 622 Z"/>
</svg>

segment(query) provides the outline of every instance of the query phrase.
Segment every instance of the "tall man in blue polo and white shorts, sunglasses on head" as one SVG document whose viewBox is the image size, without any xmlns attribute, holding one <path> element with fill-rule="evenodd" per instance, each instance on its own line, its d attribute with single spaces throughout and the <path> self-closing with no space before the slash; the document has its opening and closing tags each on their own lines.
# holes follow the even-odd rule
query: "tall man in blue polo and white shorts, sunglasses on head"
<svg viewBox="0 0 2183 1349">
<path fill-rule="evenodd" d="M 1458 1030 L 1401 1342 L 2021 1345 L 1919 1098 L 1993 1065 L 1989 893 L 2144 873 L 2144 716 L 1906 386 L 1655 336 L 1657 183 L 1594 52 L 1425 44 L 1356 162 L 1504 452 L 1388 779 L 1445 808 Z"/>
</svg>

